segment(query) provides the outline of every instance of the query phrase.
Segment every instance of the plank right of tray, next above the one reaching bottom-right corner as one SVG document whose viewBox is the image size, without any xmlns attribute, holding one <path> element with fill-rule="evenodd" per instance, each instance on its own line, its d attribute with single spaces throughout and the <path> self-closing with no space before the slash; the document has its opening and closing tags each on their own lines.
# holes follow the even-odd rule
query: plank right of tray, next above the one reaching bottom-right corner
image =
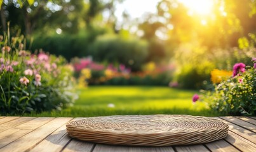
<svg viewBox="0 0 256 152">
<path fill-rule="evenodd" d="M 231 122 L 227 122 L 226 120 L 221 119 L 221 121 L 229 125 L 229 130 L 231 130 L 232 132 L 256 144 L 256 134 L 254 132 L 244 129 L 243 127 L 240 127 L 238 125 L 232 124 Z"/>
</svg>

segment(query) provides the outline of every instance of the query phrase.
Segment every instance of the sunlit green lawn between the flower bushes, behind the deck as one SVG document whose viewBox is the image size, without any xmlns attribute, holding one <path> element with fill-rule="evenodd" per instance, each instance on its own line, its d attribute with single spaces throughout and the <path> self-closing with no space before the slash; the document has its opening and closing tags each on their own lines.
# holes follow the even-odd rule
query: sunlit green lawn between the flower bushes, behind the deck
<svg viewBox="0 0 256 152">
<path fill-rule="evenodd" d="M 196 91 L 149 86 L 90 86 L 80 89 L 74 106 L 26 116 L 93 117 L 101 115 L 185 114 L 217 116 L 204 103 L 192 104 Z M 109 107 L 109 104 L 114 107 Z"/>
</svg>

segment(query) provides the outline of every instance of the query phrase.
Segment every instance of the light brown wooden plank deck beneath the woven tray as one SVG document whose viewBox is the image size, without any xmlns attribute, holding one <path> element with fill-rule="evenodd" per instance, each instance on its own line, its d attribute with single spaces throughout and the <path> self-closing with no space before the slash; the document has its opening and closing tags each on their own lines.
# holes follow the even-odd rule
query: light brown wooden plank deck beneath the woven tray
<svg viewBox="0 0 256 152">
<path fill-rule="evenodd" d="M 0 117 L 0 151 L 256 151 L 256 117 L 215 117 L 229 125 L 222 140 L 192 146 L 112 146 L 71 139 L 65 124 L 79 118 Z"/>
</svg>

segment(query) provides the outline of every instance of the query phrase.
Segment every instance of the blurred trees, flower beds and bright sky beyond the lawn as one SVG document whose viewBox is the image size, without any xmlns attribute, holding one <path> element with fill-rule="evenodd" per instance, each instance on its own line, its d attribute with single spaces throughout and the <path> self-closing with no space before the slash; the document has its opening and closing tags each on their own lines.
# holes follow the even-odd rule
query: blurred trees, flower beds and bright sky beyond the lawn
<svg viewBox="0 0 256 152">
<path fill-rule="evenodd" d="M 4 0 L 0 18 L 26 49 L 70 61 L 79 85 L 207 89 L 253 64 L 255 14 L 255 0 Z"/>
</svg>

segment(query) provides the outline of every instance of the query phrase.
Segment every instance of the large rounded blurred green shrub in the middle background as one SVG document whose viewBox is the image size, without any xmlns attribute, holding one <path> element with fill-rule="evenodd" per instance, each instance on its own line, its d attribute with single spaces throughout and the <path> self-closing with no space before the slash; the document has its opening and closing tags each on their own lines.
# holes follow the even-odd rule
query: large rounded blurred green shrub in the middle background
<svg viewBox="0 0 256 152">
<path fill-rule="evenodd" d="M 133 37 L 102 35 L 93 42 L 88 54 L 95 61 L 123 63 L 132 71 L 138 71 L 146 61 L 148 49 L 147 42 Z"/>
</svg>

